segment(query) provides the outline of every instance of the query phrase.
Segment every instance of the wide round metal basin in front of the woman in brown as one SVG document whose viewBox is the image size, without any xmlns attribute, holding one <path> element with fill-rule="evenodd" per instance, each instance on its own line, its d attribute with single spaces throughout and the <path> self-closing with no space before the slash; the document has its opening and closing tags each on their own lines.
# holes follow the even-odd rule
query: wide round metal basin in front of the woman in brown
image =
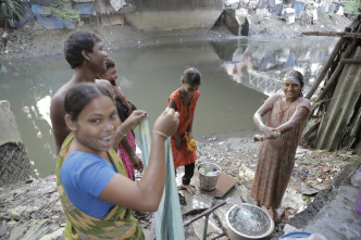
<svg viewBox="0 0 361 240">
<path fill-rule="evenodd" d="M 274 229 L 271 215 L 261 207 L 248 203 L 232 206 L 226 220 L 231 240 L 269 239 Z"/>
</svg>

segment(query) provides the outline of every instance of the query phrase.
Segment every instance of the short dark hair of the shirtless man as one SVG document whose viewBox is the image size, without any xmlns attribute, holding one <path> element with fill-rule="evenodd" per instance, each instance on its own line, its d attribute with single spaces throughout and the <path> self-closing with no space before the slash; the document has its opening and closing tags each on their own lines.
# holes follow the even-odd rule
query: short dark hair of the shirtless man
<svg viewBox="0 0 361 240">
<path fill-rule="evenodd" d="M 101 41 L 100 38 L 89 31 L 74 31 L 70 34 L 64 43 L 64 55 L 72 68 L 83 64 L 83 50 L 92 52 L 94 46 Z"/>
</svg>

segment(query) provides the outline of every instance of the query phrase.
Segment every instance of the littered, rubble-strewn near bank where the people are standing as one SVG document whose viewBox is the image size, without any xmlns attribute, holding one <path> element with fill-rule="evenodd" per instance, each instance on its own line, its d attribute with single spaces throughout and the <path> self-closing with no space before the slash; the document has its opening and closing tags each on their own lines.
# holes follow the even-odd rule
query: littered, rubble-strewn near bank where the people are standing
<svg viewBox="0 0 361 240">
<path fill-rule="evenodd" d="M 198 142 L 198 161 L 219 164 L 223 173 L 237 182 L 222 199 L 226 200 L 227 204 L 215 211 L 210 218 L 212 223 L 210 237 L 224 235 L 222 229 L 226 227 L 225 212 L 233 204 L 240 202 L 253 204 L 249 192 L 257 164 L 258 147 L 259 143 L 248 138 L 229 138 L 222 141 L 209 138 Z M 356 159 L 357 155 L 352 151 L 323 152 L 299 148 L 295 170 L 282 203 L 286 215 L 273 235 L 279 235 L 289 219 L 314 201 L 318 192 L 331 198 L 332 182 L 345 166 Z M 179 170 L 182 172 L 182 168 Z M 178 174 L 178 177 L 180 176 L 182 174 Z M 61 239 L 65 216 L 59 201 L 54 176 L 5 186 L 0 188 L 0 239 Z M 186 205 L 182 206 L 185 217 L 192 217 L 197 211 L 197 213 L 204 211 L 213 201 L 200 192 L 196 195 L 189 195 L 184 190 L 179 192 L 186 201 Z M 136 217 L 140 220 L 147 239 L 153 239 L 151 217 L 149 215 L 136 215 Z M 311 219 L 312 215 L 303 216 L 303 219 L 304 217 Z M 197 220 L 186 229 L 187 239 L 201 239 L 202 223 L 203 220 Z M 227 237 L 223 236 L 220 239 Z"/>
</svg>

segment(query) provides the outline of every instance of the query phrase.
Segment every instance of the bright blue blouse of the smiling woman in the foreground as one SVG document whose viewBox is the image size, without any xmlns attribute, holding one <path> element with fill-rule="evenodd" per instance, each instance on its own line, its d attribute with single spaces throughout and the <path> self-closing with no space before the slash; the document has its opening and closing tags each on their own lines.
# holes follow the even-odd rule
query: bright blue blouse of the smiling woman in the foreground
<svg viewBox="0 0 361 240">
<path fill-rule="evenodd" d="M 101 219 L 114 205 L 98 197 L 115 174 L 113 164 L 102 157 L 75 151 L 64 161 L 60 180 L 77 209 Z"/>
</svg>

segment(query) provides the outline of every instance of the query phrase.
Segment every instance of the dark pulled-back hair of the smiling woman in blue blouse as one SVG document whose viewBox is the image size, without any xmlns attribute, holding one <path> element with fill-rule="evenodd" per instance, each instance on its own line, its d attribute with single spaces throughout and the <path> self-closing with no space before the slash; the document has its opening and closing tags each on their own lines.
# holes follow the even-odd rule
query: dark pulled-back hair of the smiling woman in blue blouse
<svg viewBox="0 0 361 240">
<path fill-rule="evenodd" d="M 99 96 L 108 96 L 114 101 L 111 93 L 101 85 L 94 83 L 75 85 L 65 96 L 65 113 L 71 116 L 72 121 L 76 121 L 83 109 Z"/>
</svg>

